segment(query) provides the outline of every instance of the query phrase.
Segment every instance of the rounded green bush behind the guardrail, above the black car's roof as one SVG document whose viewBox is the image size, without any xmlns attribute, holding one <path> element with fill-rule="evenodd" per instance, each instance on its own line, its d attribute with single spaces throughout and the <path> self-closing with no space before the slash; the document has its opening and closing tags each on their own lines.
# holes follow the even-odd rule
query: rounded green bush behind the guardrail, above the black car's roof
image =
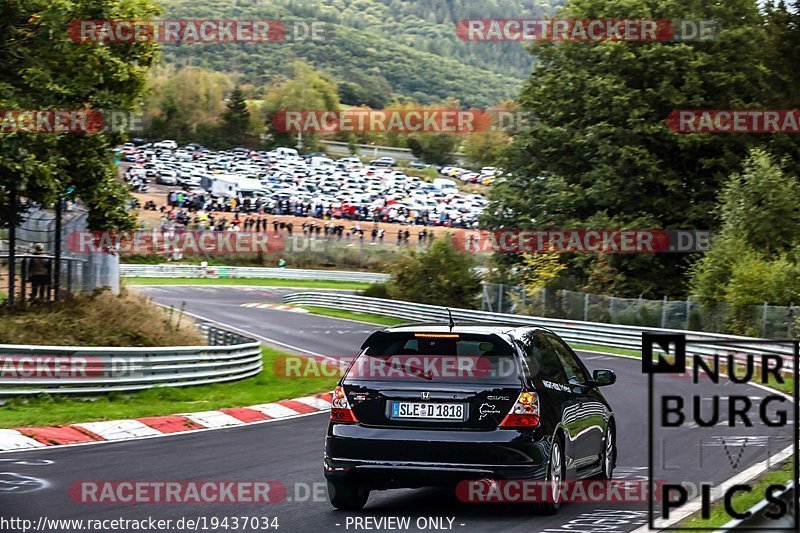
<svg viewBox="0 0 800 533">
<path fill-rule="evenodd" d="M 474 258 L 459 252 L 449 237 L 438 238 L 423 252 L 412 252 L 392 265 L 389 295 L 448 307 L 474 308 L 481 290 Z"/>
</svg>

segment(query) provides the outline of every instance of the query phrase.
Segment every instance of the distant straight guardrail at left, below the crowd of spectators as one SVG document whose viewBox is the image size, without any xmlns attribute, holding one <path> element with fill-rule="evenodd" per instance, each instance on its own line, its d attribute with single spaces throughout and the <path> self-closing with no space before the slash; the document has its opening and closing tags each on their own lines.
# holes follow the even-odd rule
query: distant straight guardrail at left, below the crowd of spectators
<svg viewBox="0 0 800 533">
<path fill-rule="evenodd" d="M 353 272 L 348 270 L 303 270 L 299 268 L 226 267 L 200 265 L 120 265 L 120 274 L 126 278 L 272 278 L 307 279 L 314 281 L 352 281 L 381 283 L 388 274 Z"/>
</svg>

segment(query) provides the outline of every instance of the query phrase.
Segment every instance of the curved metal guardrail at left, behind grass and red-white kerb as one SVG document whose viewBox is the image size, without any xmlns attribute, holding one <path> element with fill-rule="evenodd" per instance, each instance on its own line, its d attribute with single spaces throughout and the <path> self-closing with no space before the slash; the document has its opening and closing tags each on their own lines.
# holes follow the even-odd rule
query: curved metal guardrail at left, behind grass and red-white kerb
<svg viewBox="0 0 800 533">
<path fill-rule="evenodd" d="M 0 344 L 0 397 L 91 394 L 235 381 L 262 370 L 252 338 L 200 324 L 208 346 L 103 348 Z"/>
</svg>

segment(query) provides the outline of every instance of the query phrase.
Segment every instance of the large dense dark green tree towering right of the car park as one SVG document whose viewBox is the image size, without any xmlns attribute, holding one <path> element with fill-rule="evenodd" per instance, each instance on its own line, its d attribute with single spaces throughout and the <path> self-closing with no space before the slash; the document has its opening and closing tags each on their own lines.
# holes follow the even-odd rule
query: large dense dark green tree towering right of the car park
<svg viewBox="0 0 800 533">
<path fill-rule="evenodd" d="M 715 229 L 722 181 L 747 150 L 770 145 L 800 162 L 795 137 L 678 134 L 665 122 L 676 109 L 769 109 L 772 52 L 755 0 L 571 0 L 564 17 L 713 19 L 714 40 L 538 43 L 537 62 L 519 98 L 532 119 L 514 137 L 485 223 L 505 228 L 588 228 L 592 217 L 616 227 Z M 778 107 L 778 108 L 783 108 Z M 520 191 L 525 191 L 521 194 Z M 623 293 L 682 294 L 689 258 L 634 254 L 610 258 Z M 586 279 L 592 261 L 569 258 Z"/>
</svg>

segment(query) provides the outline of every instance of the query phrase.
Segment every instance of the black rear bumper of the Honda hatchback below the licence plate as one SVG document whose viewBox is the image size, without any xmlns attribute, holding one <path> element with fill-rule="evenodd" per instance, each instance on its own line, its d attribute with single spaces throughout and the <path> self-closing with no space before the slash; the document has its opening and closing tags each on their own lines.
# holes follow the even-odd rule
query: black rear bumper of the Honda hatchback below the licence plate
<svg viewBox="0 0 800 533">
<path fill-rule="evenodd" d="M 373 488 L 465 479 L 544 479 L 550 446 L 535 432 L 369 428 L 332 424 L 325 477 Z"/>
</svg>

